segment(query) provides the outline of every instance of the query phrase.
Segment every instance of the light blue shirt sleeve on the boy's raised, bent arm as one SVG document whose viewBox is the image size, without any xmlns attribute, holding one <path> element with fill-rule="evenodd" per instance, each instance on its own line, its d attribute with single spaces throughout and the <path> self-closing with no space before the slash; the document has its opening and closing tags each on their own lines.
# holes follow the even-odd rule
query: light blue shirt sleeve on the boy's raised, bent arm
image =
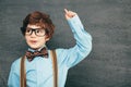
<svg viewBox="0 0 131 87">
<path fill-rule="evenodd" d="M 76 45 L 70 49 L 57 49 L 58 62 L 72 67 L 81 62 L 92 50 L 92 36 L 84 29 L 78 15 L 68 20 Z"/>
</svg>

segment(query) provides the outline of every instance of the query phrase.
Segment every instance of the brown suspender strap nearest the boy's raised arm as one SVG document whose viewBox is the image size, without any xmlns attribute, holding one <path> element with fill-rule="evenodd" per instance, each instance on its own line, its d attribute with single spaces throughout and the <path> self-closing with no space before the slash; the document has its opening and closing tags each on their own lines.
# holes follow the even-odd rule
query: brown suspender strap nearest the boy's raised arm
<svg viewBox="0 0 131 87">
<path fill-rule="evenodd" d="M 50 50 L 52 66 L 53 66 L 53 87 L 58 87 L 58 66 L 57 66 L 57 55 L 55 50 Z"/>
</svg>

